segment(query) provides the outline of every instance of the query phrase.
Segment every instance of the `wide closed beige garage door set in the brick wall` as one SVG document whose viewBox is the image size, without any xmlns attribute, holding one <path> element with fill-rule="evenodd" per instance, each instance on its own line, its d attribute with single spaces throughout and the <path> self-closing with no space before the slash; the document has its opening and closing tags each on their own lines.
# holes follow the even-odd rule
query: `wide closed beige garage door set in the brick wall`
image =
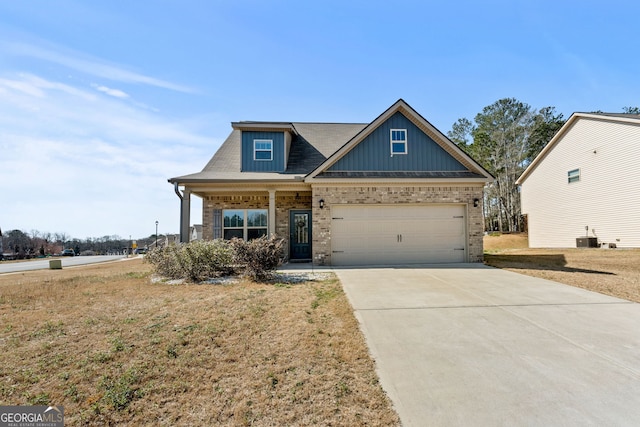
<svg viewBox="0 0 640 427">
<path fill-rule="evenodd" d="M 464 205 L 331 207 L 333 265 L 466 262 Z"/>
</svg>

